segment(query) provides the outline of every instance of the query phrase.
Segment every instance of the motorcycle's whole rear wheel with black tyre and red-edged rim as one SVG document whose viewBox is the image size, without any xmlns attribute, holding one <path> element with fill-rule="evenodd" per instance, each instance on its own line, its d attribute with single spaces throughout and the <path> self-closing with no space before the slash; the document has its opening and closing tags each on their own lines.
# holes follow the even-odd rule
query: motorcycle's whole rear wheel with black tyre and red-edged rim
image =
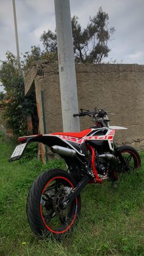
<svg viewBox="0 0 144 256">
<path fill-rule="evenodd" d="M 34 181 L 27 196 L 27 220 L 38 236 L 50 234 L 61 238 L 73 229 L 81 210 L 77 196 L 67 207 L 62 207 L 65 191 L 75 188 L 76 181 L 61 169 L 46 170 Z"/>
</svg>

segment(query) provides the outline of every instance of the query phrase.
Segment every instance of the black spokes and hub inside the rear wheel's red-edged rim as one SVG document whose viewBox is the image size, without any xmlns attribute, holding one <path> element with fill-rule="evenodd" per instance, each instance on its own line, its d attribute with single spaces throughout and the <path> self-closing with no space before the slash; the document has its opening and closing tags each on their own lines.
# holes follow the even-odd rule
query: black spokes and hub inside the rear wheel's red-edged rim
<svg viewBox="0 0 144 256">
<path fill-rule="evenodd" d="M 42 213 L 46 225 L 52 230 L 65 229 L 74 218 L 74 203 L 63 207 L 67 189 L 70 184 L 62 179 L 52 180 L 41 195 Z M 66 189 L 67 188 L 67 189 Z"/>
</svg>

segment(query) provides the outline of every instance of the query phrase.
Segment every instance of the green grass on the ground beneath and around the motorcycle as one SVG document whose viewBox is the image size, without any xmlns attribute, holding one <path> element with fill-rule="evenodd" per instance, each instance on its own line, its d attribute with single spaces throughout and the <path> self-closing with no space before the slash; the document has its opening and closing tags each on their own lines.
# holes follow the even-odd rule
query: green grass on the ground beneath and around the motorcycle
<svg viewBox="0 0 144 256">
<path fill-rule="evenodd" d="M 144 168 L 82 192 L 79 223 L 63 241 L 38 240 L 26 219 L 29 187 L 45 168 L 40 161 L 9 163 L 13 145 L 0 143 L 0 255 L 144 255 Z M 143 153 L 141 154 L 143 155 Z M 143 159 L 143 156 L 142 156 Z"/>
</svg>

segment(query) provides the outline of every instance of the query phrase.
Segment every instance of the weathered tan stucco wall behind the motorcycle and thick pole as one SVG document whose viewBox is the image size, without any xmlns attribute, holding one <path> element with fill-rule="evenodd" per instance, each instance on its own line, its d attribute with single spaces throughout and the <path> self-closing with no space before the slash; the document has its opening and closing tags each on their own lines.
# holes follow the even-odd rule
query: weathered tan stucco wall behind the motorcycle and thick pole
<svg viewBox="0 0 144 256">
<path fill-rule="evenodd" d="M 40 90 L 44 91 L 46 133 L 62 131 L 59 69 L 55 64 L 37 64 L 35 90 L 40 108 L 40 130 L 43 132 Z M 110 125 L 125 126 L 118 131 L 119 143 L 144 140 L 144 65 L 137 64 L 77 64 L 79 108 L 106 109 Z M 81 117 L 81 130 L 92 126 L 90 117 Z"/>
</svg>

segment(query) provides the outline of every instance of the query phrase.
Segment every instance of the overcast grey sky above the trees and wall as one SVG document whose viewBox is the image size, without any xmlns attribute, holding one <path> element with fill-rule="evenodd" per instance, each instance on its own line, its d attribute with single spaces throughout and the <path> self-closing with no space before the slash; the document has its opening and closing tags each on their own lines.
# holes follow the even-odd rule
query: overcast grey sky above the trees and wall
<svg viewBox="0 0 144 256">
<path fill-rule="evenodd" d="M 31 45 L 41 46 L 44 30 L 55 30 L 54 0 L 15 0 L 15 4 L 20 53 L 24 53 Z M 144 64 L 144 0 L 70 0 L 70 5 L 71 16 L 77 15 L 82 27 L 101 6 L 116 29 L 109 42 L 109 59 Z M 7 50 L 16 54 L 12 0 L 0 0 L 0 60 Z"/>
</svg>

